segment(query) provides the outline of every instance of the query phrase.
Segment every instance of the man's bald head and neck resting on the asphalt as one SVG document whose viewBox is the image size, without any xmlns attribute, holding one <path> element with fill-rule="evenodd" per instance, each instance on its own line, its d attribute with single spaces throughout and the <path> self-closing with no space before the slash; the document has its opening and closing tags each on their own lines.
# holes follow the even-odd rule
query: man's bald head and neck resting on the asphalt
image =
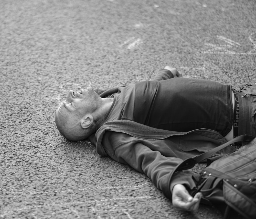
<svg viewBox="0 0 256 219">
<path fill-rule="evenodd" d="M 112 102 L 113 98 L 99 97 L 92 87 L 77 92 L 70 90 L 55 112 L 56 126 L 66 139 L 82 141 L 104 122 Z"/>
</svg>

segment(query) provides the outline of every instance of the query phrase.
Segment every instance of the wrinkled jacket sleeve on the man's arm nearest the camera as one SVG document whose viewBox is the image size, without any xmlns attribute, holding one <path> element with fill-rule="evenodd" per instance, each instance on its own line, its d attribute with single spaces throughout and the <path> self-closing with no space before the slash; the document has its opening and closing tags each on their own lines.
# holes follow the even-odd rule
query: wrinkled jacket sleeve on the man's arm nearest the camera
<svg viewBox="0 0 256 219">
<path fill-rule="evenodd" d="M 153 151 L 140 140 L 124 133 L 107 131 L 104 136 L 106 153 L 119 163 L 130 165 L 146 174 L 164 195 L 171 199 L 171 191 L 176 184 L 183 184 L 188 189 L 195 188 L 190 170 L 171 173 L 182 159 L 165 157 L 159 151 Z"/>
</svg>

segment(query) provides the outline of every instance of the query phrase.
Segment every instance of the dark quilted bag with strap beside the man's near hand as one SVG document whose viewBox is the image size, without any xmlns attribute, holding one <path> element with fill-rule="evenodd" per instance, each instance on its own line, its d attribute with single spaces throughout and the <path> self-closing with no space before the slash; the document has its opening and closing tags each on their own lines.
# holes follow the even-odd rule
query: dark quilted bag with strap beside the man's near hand
<svg viewBox="0 0 256 219">
<path fill-rule="evenodd" d="M 192 168 L 196 163 L 205 160 L 216 150 L 234 142 L 243 141 L 246 135 L 220 145 L 199 156 L 188 158 L 176 167 L 175 171 Z M 248 219 L 256 218 L 256 138 L 241 146 L 231 154 L 209 164 L 200 172 L 197 190 L 201 192 L 204 204 L 214 205 L 224 218 L 238 212 Z"/>
</svg>

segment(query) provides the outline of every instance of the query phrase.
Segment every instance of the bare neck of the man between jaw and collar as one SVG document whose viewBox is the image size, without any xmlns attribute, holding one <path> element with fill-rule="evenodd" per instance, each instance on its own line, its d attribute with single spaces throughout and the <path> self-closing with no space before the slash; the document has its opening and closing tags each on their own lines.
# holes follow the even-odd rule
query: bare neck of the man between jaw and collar
<svg viewBox="0 0 256 219">
<path fill-rule="evenodd" d="M 114 101 L 114 98 L 102 98 L 102 106 L 97 110 L 97 116 L 96 116 L 96 128 L 97 130 L 104 124 L 105 122 L 105 116 L 110 110 L 112 103 Z"/>
</svg>

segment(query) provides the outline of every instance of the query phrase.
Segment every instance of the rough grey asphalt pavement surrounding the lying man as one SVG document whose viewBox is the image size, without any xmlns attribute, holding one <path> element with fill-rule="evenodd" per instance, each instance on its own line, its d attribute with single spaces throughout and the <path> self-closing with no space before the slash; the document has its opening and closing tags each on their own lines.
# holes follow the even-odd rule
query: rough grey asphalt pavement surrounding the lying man
<svg viewBox="0 0 256 219">
<path fill-rule="evenodd" d="M 1 0 L 0 218 L 221 218 L 177 211 L 145 175 L 64 139 L 54 113 L 70 89 L 165 65 L 255 84 L 255 11 L 255 0 Z"/>
</svg>

